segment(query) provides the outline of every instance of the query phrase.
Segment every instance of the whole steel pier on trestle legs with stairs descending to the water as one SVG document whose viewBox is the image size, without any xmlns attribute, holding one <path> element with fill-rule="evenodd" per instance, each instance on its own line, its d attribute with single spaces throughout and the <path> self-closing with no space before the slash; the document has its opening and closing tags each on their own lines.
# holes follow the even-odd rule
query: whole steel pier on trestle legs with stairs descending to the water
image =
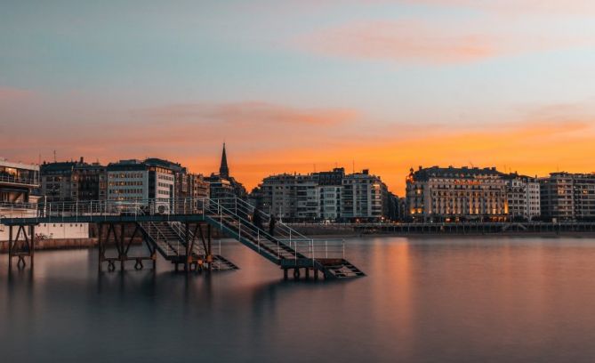
<svg viewBox="0 0 595 363">
<path fill-rule="evenodd" d="M 236 263 L 213 252 L 213 230 L 275 263 L 284 278 L 356 278 L 365 273 L 345 259 L 342 240 L 314 239 L 277 222 L 273 235 L 250 221 L 260 214 L 240 198 L 94 200 L 71 203 L 15 204 L 0 219 L 9 229 L 9 268 L 35 263 L 35 228 L 40 223 L 96 223 L 99 231 L 98 270 L 155 268 L 157 254 L 174 270 L 237 270 Z M 133 230 L 126 236 L 125 230 Z M 134 241 L 146 248 L 131 249 Z M 145 251 L 144 254 L 141 251 Z"/>
</svg>

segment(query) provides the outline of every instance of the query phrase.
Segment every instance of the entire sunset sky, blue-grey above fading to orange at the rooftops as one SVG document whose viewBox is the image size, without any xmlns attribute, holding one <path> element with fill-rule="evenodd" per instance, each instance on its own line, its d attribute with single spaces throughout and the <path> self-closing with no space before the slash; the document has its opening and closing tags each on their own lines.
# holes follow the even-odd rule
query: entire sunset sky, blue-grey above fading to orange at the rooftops
<svg viewBox="0 0 595 363">
<path fill-rule="evenodd" d="M 0 0 L 0 157 L 595 172 L 591 0 Z"/>
</svg>

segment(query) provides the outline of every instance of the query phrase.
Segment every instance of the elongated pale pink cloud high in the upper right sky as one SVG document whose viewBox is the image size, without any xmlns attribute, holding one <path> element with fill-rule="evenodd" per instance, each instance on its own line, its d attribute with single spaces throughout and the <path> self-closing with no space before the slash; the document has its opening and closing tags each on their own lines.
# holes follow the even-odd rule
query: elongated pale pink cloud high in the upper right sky
<svg viewBox="0 0 595 363">
<path fill-rule="evenodd" d="M 493 20 L 490 20 L 490 22 Z M 403 63 L 456 64 L 592 44 L 564 32 L 545 36 L 472 21 L 371 20 L 324 28 L 297 39 L 310 52 Z M 516 29 L 516 30 L 515 30 Z"/>
</svg>

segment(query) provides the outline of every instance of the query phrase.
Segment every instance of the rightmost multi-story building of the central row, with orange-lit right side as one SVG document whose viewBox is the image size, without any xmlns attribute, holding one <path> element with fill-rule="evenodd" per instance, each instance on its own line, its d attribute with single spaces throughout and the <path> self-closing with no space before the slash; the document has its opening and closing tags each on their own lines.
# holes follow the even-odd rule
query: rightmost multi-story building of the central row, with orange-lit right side
<svg viewBox="0 0 595 363">
<path fill-rule="evenodd" d="M 345 175 L 342 181 L 342 219 L 381 221 L 389 213 L 388 198 L 386 184 L 367 169 Z"/>
</svg>

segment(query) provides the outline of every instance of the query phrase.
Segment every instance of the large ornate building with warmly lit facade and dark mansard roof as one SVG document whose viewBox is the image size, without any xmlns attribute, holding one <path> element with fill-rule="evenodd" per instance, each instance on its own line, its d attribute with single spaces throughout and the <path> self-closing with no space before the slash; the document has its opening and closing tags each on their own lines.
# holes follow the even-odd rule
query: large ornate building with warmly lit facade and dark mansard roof
<svg viewBox="0 0 595 363">
<path fill-rule="evenodd" d="M 509 212 L 506 181 L 494 167 L 412 168 L 406 198 L 416 221 L 503 221 Z"/>
</svg>

